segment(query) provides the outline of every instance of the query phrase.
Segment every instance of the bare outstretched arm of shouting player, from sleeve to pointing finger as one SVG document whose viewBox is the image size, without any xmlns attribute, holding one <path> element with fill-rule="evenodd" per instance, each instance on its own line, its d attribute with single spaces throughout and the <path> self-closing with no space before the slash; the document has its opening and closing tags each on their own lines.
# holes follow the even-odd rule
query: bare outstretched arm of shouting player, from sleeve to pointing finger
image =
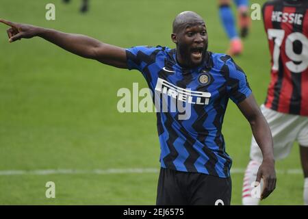
<svg viewBox="0 0 308 219">
<path fill-rule="evenodd" d="M 53 29 L 13 23 L 3 19 L 0 19 L 0 22 L 10 26 L 7 30 L 10 42 L 39 36 L 70 53 L 97 60 L 110 66 L 127 68 L 126 52 L 123 48 L 105 44 L 80 34 L 67 34 Z"/>
</svg>

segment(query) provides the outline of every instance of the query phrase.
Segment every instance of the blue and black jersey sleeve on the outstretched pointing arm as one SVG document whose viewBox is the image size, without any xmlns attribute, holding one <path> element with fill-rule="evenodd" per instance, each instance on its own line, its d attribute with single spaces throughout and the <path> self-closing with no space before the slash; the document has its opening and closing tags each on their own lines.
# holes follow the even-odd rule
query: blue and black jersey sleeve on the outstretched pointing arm
<svg viewBox="0 0 308 219">
<path fill-rule="evenodd" d="M 155 47 L 138 46 L 126 49 L 127 67 L 129 70 L 140 70 L 151 62 L 151 54 L 156 50 Z"/>
</svg>

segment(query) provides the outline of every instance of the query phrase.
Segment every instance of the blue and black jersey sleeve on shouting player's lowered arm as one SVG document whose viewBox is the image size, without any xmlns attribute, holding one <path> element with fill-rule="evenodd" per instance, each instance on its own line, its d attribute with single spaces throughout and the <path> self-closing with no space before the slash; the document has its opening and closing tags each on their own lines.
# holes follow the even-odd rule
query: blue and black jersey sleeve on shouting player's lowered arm
<svg viewBox="0 0 308 219">
<path fill-rule="evenodd" d="M 229 68 L 229 78 L 227 81 L 229 97 L 235 104 L 238 104 L 244 101 L 252 91 L 244 71 L 235 64 L 232 58 L 227 61 L 227 66 Z"/>
</svg>

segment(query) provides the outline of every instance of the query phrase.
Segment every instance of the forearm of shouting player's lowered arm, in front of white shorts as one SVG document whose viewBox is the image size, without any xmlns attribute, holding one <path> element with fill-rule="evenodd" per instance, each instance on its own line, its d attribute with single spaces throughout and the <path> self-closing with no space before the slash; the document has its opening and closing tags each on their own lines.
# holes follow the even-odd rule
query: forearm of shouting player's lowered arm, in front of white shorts
<svg viewBox="0 0 308 219">
<path fill-rule="evenodd" d="M 272 133 L 266 119 L 260 114 L 251 120 L 250 124 L 253 136 L 261 149 L 263 159 L 274 162 Z"/>
</svg>

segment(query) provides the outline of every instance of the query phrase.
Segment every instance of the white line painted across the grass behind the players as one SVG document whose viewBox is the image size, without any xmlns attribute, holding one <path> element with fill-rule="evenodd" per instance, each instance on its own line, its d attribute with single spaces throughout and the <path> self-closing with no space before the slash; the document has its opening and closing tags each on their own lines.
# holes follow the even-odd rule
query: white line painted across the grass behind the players
<svg viewBox="0 0 308 219">
<path fill-rule="evenodd" d="M 8 175 L 109 175 L 109 174 L 127 174 L 127 173 L 158 173 L 159 168 L 110 168 L 94 170 L 73 170 L 73 169 L 54 169 L 54 170 L 0 170 L 0 176 Z M 231 174 L 242 174 L 244 168 L 231 168 Z M 301 169 L 276 170 L 277 173 L 299 175 L 303 174 Z"/>
</svg>

